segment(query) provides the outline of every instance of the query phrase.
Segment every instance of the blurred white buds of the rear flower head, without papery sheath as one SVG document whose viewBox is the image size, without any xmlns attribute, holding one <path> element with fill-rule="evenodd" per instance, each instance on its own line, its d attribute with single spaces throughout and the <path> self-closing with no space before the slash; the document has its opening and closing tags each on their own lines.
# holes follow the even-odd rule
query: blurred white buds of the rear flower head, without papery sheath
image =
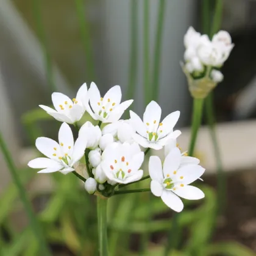
<svg viewBox="0 0 256 256">
<path fill-rule="evenodd" d="M 201 35 L 190 27 L 184 37 L 185 69 L 194 77 L 201 77 L 207 71 L 211 79 L 219 83 L 223 75 L 219 69 L 233 49 L 232 39 L 228 32 L 220 30 L 213 35 L 212 41 L 207 35 Z"/>
</svg>

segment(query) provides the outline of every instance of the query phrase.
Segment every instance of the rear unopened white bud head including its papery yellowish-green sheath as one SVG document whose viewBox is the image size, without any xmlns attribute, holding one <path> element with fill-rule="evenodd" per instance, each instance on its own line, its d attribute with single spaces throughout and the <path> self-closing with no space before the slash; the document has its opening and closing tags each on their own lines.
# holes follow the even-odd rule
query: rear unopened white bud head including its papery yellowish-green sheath
<svg viewBox="0 0 256 256">
<path fill-rule="evenodd" d="M 190 92 L 194 98 L 205 98 L 223 80 L 220 69 L 230 55 L 234 44 L 228 32 L 220 30 L 213 35 L 201 35 L 190 27 L 184 37 L 185 63 Z M 194 82 L 196 81 L 196 82 Z"/>
</svg>

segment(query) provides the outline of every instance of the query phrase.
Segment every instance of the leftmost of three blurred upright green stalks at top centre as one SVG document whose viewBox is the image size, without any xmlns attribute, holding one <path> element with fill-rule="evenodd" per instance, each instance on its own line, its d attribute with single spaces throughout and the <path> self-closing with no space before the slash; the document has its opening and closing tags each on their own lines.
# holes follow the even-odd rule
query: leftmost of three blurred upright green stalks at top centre
<svg viewBox="0 0 256 256">
<path fill-rule="evenodd" d="M 127 99 L 134 99 L 138 67 L 138 1 L 130 2 L 130 66 Z"/>
</svg>

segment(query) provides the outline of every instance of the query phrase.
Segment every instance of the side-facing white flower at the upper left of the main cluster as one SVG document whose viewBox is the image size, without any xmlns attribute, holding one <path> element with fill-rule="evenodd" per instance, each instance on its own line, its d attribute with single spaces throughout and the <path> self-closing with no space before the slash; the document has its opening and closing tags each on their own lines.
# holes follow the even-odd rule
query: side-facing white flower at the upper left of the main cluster
<svg viewBox="0 0 256 256">
<path fill-rule="evenodd" d="M 76 98 L 73 101 L 65 94 L 52 93 L 52 103 L 55 110 L 45 105 L 39 105 L 39 107 L 43 108 L 58 121 L 74 124 L 84 115 L 87 101 L 87 85 L 83 84 L 77 91 Z"/>
</svg>

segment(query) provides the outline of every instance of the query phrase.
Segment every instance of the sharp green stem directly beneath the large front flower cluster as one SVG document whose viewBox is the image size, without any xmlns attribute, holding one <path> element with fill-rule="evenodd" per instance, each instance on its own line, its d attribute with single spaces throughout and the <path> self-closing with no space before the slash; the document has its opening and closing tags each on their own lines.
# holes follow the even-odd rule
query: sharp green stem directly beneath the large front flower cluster
<svg viewBox="0 0 256 256">
<path fill-rule="evenodd" d="M 99 256 L 108 255 L 107 244 L 107 199 L 97 197 Z"/>
</svg>

